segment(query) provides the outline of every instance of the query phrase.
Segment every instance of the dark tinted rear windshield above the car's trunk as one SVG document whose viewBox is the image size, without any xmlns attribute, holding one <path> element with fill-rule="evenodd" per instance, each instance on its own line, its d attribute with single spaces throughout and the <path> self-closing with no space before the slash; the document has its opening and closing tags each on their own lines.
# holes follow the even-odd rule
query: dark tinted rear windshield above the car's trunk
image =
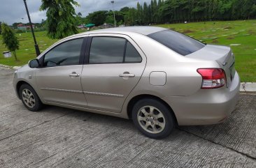
<svg viewBox="0 0 256 168">
<path fill-rule="evenodd" d="M 182 33 L 171 30 L 152 33 L 148 35 L 148 37 L 156 40 L 166 47 L 169 47 L 169 49 L 172 49 L 174 52 L 177 52 L 183 56 L 192 54 L 205 46 L 204 43 L 194 40 L 194 38 L 190 38 Z"/>
</svg>

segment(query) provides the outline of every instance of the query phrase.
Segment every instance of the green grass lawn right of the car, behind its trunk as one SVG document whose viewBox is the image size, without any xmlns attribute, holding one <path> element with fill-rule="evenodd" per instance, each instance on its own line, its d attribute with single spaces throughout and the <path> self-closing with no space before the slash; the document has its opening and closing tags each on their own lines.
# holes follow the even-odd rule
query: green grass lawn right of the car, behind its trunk
<svg viewBox="0 0 256 168">
<path fill-rule="evenodd" d="M 256 82 L 256 20 L 161 24 L 213 45 L 232 47 L 242 82 Z"/>
</svg>

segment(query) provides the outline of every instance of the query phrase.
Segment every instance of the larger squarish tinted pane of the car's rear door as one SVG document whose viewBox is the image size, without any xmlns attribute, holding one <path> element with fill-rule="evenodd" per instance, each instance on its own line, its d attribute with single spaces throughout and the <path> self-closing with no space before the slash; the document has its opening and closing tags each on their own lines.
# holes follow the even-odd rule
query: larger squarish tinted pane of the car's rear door
<svg viewBox="0 0 256 168">
<path fill-rule="evenodd" d="M 122 63 L 125 43 L 125 38 L 92 38 L 89 63 Z"/>
</svg>

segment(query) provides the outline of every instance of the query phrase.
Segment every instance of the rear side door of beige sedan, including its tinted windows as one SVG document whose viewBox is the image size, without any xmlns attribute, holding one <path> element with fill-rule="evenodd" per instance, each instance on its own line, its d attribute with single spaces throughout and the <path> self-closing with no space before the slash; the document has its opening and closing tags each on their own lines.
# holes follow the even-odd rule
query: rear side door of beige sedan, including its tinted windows
<svg viewBox="0 0 256 168">
<path fill-rule="evenodd" d="M 81 77 L 88 107 L 118 113 L 136 86 L 146 58 L 134 41 L 125 35 L 90 36 Z"/>
</svg>

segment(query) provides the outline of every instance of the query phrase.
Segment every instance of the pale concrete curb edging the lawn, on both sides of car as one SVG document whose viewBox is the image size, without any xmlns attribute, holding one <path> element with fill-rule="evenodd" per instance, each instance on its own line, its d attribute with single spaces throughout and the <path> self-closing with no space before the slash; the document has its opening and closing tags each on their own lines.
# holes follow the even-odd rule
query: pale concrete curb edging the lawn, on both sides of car
<svg viewBox="0 0 256 168">
<path fill-rule="evenodd" d="M 5 68 L 5 69 L 17 70 L 20 67 L 21 66 L 6 66 L 3 64 L 0 64 L 0 68 Z M 241 92 L 256 92 L 256 82 L 241 82 L 240 91 Z"/>
</svg>

